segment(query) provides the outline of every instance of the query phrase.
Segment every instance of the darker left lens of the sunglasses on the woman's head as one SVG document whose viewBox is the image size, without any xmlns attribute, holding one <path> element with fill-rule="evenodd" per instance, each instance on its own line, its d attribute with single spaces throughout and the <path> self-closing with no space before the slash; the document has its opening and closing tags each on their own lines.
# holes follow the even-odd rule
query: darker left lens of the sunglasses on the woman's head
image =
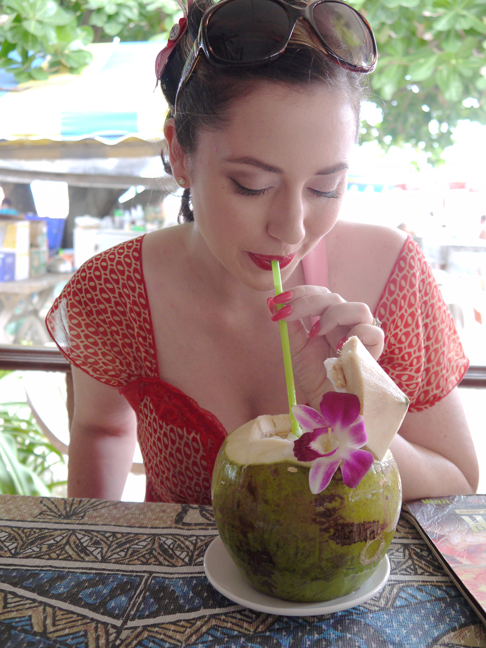
<svg viewBox="0 0 486 648">
<path fill-rule="evenodd" d="M 234 0 L 209 19 L 207 44 L 222 61 L 260 62 L 281 47 L 288 26 L 286 10 L 273 0 Z"/>
</svg>

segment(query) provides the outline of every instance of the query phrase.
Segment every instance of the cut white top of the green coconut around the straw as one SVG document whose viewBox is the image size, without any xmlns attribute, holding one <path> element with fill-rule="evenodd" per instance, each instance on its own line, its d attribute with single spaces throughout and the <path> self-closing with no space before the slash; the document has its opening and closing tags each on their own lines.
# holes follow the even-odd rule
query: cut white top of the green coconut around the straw
<svg viewBox="0 0 486 648">
<path fill-rule="evenodd" d="M 291 432 L 288 414 L 264 414 L 248 421 L 226 438 L 224 452 L 238 465 L 253 465 L 290 461 L 301 466 L 309 462 L 297 461 L 294 443 L 286 437 Z"/>
</svg>

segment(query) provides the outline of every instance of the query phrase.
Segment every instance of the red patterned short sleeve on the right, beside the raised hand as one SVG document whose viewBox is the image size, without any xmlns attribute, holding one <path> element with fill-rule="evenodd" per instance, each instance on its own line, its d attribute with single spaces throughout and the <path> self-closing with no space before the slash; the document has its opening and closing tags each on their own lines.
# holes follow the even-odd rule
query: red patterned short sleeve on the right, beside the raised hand
<svg viewBox="0 0 486 648">
<path fill-rule="evenodd" d="M 467 371 L 454 320 L 415 241 L 408 237 L 375 309 L 385 347 L 379 364 L 410 398 L 409 411 L 443 399 Z"/>
</svg>

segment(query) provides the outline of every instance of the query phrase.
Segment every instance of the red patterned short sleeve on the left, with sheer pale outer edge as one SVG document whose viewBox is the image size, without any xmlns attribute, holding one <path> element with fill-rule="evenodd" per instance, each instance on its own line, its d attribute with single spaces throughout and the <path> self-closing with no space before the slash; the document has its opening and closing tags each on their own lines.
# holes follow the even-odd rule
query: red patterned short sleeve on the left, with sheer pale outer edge
<svg viewBox="0 0 486 648">
<path fill-rule="evenodd" d="M 46 318 L 69 363 L 117 388 L 158 375 L 141 242 L 132 239 L 89 259 Z"/>
</svg>

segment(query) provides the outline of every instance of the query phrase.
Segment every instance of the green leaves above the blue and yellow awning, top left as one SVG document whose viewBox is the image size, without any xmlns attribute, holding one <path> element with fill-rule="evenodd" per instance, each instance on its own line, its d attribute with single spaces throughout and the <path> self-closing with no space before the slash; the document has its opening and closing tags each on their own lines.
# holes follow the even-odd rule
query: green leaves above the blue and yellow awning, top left
<svg viewBox="0 0 486 648">
<path fill-rule="evenodd" d="M 18 82 L 79 73 L 89 43 L 167 40 L 176 0 L 1 0 L 0 67 Z"/>
</svg>

